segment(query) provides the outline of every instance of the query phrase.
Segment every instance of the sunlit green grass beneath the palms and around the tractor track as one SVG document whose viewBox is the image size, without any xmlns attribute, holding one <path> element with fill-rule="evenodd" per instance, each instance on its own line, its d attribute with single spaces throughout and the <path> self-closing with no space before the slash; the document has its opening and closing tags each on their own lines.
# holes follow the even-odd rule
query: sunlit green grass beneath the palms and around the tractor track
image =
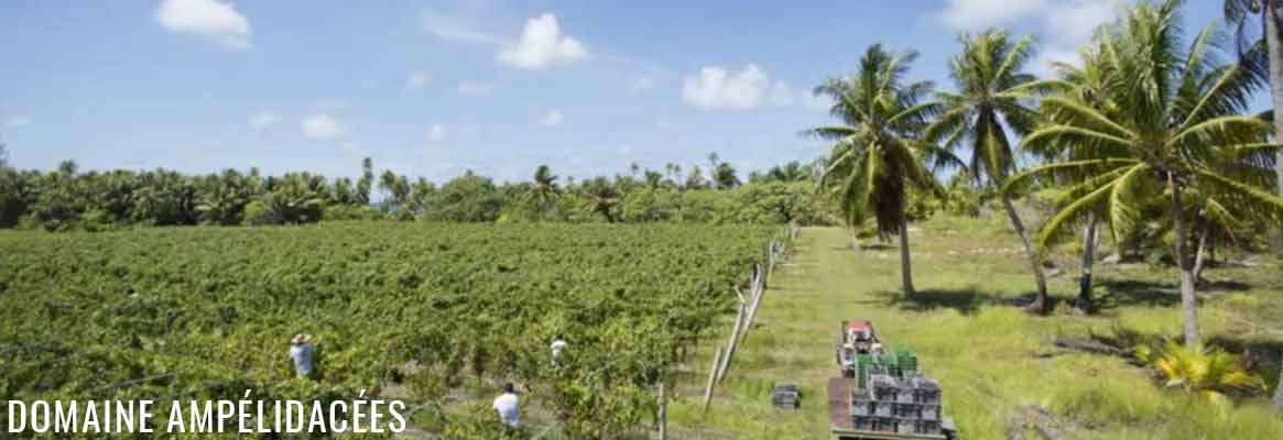
<svg viewBox="0 0 1283 440">
<path fill-rule="evenodd" d="M 1041 405 L 1075 422 L 1092 439 L 1277 439 L 1264 396 L 1219 412 L 1155 385 L 1146 371 L 1117 358 L 1056 349 L 1060 336 L 1107 334 L 1120 326 L 1148 335 L 1179 335 L 1175 272 L 1135 264 L 1097 266 L 1096 316 L 1062 312 L 1033 317 L 1011 305 L 1032 294 L 1019 241 L 999 221 L 942 218 L 911 228 L 913 275 L 920 294 L 899 294 L 897 250 L 852 251 L 838 228 L 802 232 L 795 254 L 771 280 L 757 323 L 736 351 L 712 408 L 702 410 L 712 350 L 726 328 L 709 336 L 679 381 L 670 425 L 703 439 L 824 439 L 825 384 L 837 375 L 839 321 L 872 319 L 884 343 L 919 353 L 922 369 L 942 382 L 946 413 L 966 439 L 1003 439 L 1007 417 Z M 1066 266 L 1073 255 L 1065 255 Z M 1203 335 L 1232 349 L 1273 353 L 1283 336 L 1283 280 L 1275 260 L 1218 267 L 1220 281 L 1202 300 Z M 1078 269 L 1049 280 L 1055 296 L 1076 294 Z M 1230 282 L 1232 281 L 1232 282 Z M 1270 351 L 1273 350 L 1273 351 Z M 1277 363 L 1278 360 L 1270 360 Z M 1277 375 L 1277 369 L 1273 372 Z M 802 409 L 770 405 L 776 381 L 802 386 Z"/>
</svg>

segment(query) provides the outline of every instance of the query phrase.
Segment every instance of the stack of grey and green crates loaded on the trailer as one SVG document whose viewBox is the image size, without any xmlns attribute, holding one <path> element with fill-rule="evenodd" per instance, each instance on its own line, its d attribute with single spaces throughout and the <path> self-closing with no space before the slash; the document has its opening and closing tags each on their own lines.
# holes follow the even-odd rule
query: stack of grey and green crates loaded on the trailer
<svg viewBox="0 0 1283 440">
<path fill-rule="evenodd" d="M 857 359 L 851 417 L 857 430 L 940 435 L 940 385 L 910 351 Z"/>
</svg>

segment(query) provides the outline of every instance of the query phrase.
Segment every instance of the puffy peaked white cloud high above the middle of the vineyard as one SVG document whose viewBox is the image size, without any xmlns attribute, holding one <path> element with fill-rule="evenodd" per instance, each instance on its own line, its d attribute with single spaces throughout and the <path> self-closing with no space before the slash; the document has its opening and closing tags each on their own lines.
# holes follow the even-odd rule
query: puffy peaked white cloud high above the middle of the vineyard
<svg viewBox="0 0 1283 440">
<path fill-rule="evenodd" d="M 586 55 L 588 50 L 579 40 L 561 35 L 557 15 L 545 13 L 526 21 L 521 38 L 506 45 L 495 59 L 499 64 L 518 69 L 543 69 L 572 63 Z"/>
</svg>

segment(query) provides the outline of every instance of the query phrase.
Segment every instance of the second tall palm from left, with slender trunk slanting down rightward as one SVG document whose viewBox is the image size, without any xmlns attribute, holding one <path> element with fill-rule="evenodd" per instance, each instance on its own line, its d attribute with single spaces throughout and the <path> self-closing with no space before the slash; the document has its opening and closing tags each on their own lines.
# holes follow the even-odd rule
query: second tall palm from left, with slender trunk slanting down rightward
<svg viewBox="0 0 1283 440">
<path fill-rule="evenodd" d="M 949 62 L 949 76 L 958 91 L 935 92 L 940 115 L 928 127 L 926 137 L 943 141 L 951 150 L 965 144 L 971 150 L 967 168 L 976 185 L 1002 186 L 1016 168 L 1016 153 L 1007 132 L 1024 136 L 1035 128 L 1038 119 L 1038 113 L 1028 106 L 1028 90 L 1035 77 L 1024 72 L 1034 55 L 1033 38 L 1014 41 L 1005 31 L 988 31 L 975 36 L 964 33 L 958 41 L 962 53 Z M 1047 313 L 1049 304 L 1042 260 L 1011 198 L 1001 195 L 999 200 L 1011 227 L 1020 236 L 1038 285 L 1038 296 L 1029 309 Z"/>
</svg>

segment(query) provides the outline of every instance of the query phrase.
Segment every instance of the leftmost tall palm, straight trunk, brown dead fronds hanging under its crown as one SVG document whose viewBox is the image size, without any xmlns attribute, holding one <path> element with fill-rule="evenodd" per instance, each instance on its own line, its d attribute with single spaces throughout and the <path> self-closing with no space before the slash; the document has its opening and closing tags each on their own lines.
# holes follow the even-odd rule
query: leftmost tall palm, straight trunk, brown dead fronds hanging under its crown
<svg viewBox="0 0 1283 440">
<path fill-rule="evenodd" d="M 919 133 L 926 114 L 919 101 L 930 92 L 929 82 L 906 83 L 916 53 L 896 54 L 872 45 L 854 74 L 831 78 L 815 89 L 833 97 L 829 114 L 839 124 L 815 127 L 806 135 L 831 141 L 820 189 L 838 199 L 844 221 L 862 224 L 871 213 L 878 231 L 899 235 L 902 289 L 912 295 L 908 251 L 906 186 L 939 190 L 925 160 L 948 151 L 924 142 Z"/>
</svg>

